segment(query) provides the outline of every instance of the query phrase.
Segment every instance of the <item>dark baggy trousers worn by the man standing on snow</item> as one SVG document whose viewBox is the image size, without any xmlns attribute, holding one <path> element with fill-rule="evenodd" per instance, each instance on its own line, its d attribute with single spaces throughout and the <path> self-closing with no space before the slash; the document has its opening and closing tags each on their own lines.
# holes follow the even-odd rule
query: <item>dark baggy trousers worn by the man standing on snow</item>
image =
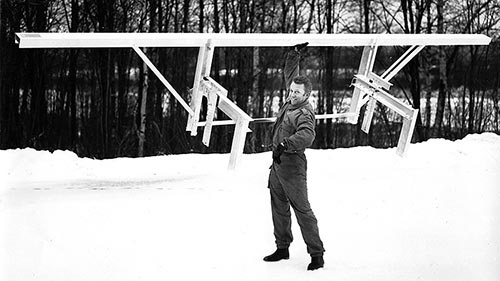
<svg viewBox="0 0 500 281">
<path fill-rule="evenodd" d="M 319 237 L 318 221 L 307 196 L 305 155 L 284 153 L 281 164 L 273 163 L 269 174 L 269 189 L 277 248 L 288 248 L 293 241 L 291 206 L 307 245 L 307 252 L 311 256 L 322 256 L 325 250 Z"/>
</svg>

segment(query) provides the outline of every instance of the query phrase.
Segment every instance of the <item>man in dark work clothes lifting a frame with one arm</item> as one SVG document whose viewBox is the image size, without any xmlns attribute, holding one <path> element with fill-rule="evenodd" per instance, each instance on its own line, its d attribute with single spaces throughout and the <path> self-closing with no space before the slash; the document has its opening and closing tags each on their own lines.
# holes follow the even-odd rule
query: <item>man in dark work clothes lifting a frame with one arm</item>
<svg viewBox="0 0 500 281">
<path fill-rule="evenodd" d="M 318 223 L 307 196 L 307 160 L 304 154 L 315 137 L 315 117 L 309 96 L 312 84 L 298 74 L 300 44 L 288 52 L 285 63 L 285 81 L 288 96 L 280 109 L 273 127 L 273 164 L 269 174 L 271 210 L 277 250 L 264 257 L 274 262 L 290 257 L 288 247 L 293 240 L 291 230 L 292 206 L 302 237 L 311 255 L 307 270 L 323 267 L 323 242 L 319 237 Z"/>
</svg>

